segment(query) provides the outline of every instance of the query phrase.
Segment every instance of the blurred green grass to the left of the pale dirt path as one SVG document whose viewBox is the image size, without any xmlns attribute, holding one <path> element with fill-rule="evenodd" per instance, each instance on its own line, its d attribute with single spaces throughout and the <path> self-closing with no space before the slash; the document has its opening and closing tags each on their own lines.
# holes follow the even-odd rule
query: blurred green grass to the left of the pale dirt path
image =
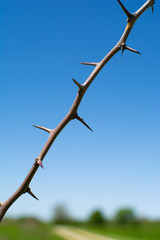
<svg viewBox="0 0 160 240">
<path fill-rule="evenodd" d="M 4 220 L 0 224 L 0 240 L 62 240 L 53 234 L 53 225 L 36 219 Z"/>
</svg>

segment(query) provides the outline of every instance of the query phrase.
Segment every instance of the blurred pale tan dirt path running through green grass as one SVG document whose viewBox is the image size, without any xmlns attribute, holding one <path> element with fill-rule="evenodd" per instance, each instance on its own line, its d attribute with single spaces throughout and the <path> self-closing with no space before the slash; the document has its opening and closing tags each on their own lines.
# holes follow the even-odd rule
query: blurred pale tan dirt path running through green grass
<svg viewBox="0 0 160 240">
<path fill-rule="evenodd" d="M 75 227 L 56 226 L 53 232 L 65 240 L 118 240 L 110 237 L 104 237 L 96 233 L 91 233 Z"/>
</svg>

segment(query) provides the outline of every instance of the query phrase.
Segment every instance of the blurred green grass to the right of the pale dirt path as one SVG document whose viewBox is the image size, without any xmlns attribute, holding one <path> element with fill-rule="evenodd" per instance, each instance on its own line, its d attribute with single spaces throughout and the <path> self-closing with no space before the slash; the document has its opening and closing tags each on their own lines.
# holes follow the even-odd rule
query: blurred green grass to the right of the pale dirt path
<svg viewBox="0 0 160 240">
<path fill-rule="evenodd" d="M 80 227 L 120 240 L 160 240 L 160 222 L 145 222 L 126 226 L 108 224 L 106 226 L 83 225 Z"/>
</svg>

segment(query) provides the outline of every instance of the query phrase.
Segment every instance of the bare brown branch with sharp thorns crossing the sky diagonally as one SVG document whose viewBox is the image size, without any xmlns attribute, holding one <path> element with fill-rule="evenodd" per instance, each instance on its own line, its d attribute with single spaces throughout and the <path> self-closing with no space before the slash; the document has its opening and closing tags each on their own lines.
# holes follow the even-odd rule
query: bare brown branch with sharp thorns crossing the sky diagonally
<svg viewBox="0 0 160 240">
<path fill-rule="evenodd" d="M 47 142 L 45 143 L 44 147 L 42 148 L 39 156 L 35 159 L 34 164 L 32 165 L 29 173 L 27 174 L 26 178 L 24 179 L 24 181 L 22 182 L 22 184 L 20 185 L 20 187 L 17 189 L 17 191 L 8 199 L 6 200 L 4 203 L 0 203 L 0 222 L 2 221 L 5 213 L 7 212 L 7 210 L 9 209 L 9 207 L 24 193 L 29 193 L 32 197 L 36 198 L 38 200 L 38 198 L 32 193 L 29 185 L 30 182 L 32 181 L 32 178 L 34 177 L 36 171 L 38 170 L 39 166 L 43 167 L 42 165 L 42 161 L 45 157 L 45 155 L 47 154 L 48 150 L 50 149 L 52 143 L 54 142 L 54 140 L 56 139 L 56 137 L 59 135 L 59 133 L 62 131 L 62 129 L 73 119 L 77 119 L 79 120 L 81 123 L 83 123 L 87 128 L 89 128 L 91 131 L 92 129 L 85 123 L 85 121 L 78 116 L 77 114 L 77 110 L 78 107 L 81 103 L 81 100 L 85 94 L 85 92 L 87 91 L 88 87 L 90 86 L 90 84 L 92 83 L 92 81 L 95 79 L 95 77 L 97 76 L 97 74 L 100 72 L 100 70 L 104 67 L 104 65 L 120 50 L 122 50 L 122 54 L 124 52 L 124 50 L 129 50 L 132 51 L 134 53 L 138 53 L 140 54 L 137 50 L 134 50 L 133 48 L 130 48 L 128 46 L 126 46 L 126 40 L 132 30 L 132 27 L 134 25 L 134 23 L 136 22 L 136 20 L 141 16 L 141 14 L 147 10 L 149 7 L 151 7 L 152 12 L 153 12 L 153 4 L 155 3 L 155 0 L 148 0 L 146 1 L 146 3 L 139 8 L 135 13 L 130 13 L 125 6 L 121 3 L 120 0 L 118 0 L 118 3 L 120 4 L 120 6 L 122 7 L 123 11 L 125 12 L 125 14 L 127 15 L 127 26 L 120 38 L 120 40 L 118 41 L 118 43 L 112 48 L 112 50 L 98 63 L 86 63 L 83 62 L 81 64 L 85 64 L 85 65 L 91 65 L 91 66 L 95 66 L 94 70 L 92 71 L 92 73 L 90 74 L 90 76 L 87 78 L 87 80 L 85 81 L 84 84 L 80 84 L 78 83 L 75 79 L 73 79 L 73 82 L 77 85 L 78 87 L 78 93 L 77 96 L 69 110 L 69 112 L 67 113 L 67 115 L 64 117 L 64 119 L 60 122 L 60 124 L 53 130 L 45 128 L 45 127 L 39 127 L 39 126 L 34 126 L 37 128 L 40 128 L 46 132 L 49 133 L 49 137 Z"/>
</svg>

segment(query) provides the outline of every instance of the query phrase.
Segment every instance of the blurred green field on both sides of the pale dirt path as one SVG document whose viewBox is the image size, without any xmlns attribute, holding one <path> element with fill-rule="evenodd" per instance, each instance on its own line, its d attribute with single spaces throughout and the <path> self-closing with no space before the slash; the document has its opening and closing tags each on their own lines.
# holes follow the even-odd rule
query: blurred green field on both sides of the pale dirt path
<svg viewBox="0 0 160 240">
<path fill-rule="evenodd" d="M 103 226 L 74 222 L 69 225 L 75 231 L 83 229 L 118 240 L 160 240 L 160 222 L 146 221 L 121 226 L 113 222 Z M 68 227 L 67 224 L 64 226 Z M 0 224 L 0 240 L 63 240 L 54 234 L 53 229 L 54 224 L 35 218 L 6 219 Z"/>
</svg>

